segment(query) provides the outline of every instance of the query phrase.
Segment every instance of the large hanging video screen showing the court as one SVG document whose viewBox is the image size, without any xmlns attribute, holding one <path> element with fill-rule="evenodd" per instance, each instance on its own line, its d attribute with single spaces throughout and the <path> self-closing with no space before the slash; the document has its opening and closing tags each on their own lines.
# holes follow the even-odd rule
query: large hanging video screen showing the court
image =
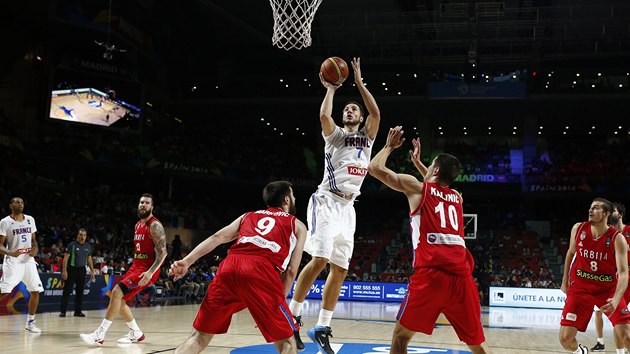
<svg viewBox="0 0 630 354">
<path fill-rule="evenodd" d="M 56 69 L 50 92 L 51 119 L 138 130 L 142 85 L 109 76 Z"/>
</svg>

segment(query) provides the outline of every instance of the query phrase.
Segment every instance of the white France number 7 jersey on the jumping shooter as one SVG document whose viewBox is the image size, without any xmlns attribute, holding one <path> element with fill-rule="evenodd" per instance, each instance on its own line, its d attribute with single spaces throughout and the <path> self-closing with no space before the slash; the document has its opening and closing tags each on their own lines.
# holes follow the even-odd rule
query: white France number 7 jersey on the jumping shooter
<svg viewBox="0 0 630 354">
<path fill-rule="evenodd" d="M 318 188 L 354 194 L 356 198 L 367 175 L 374 140 L 367 135 L 365 127 L 348 133 L 337 126 L 332 134 L 324 136 L 324 141 L 324 179 Z"/>
</svg>

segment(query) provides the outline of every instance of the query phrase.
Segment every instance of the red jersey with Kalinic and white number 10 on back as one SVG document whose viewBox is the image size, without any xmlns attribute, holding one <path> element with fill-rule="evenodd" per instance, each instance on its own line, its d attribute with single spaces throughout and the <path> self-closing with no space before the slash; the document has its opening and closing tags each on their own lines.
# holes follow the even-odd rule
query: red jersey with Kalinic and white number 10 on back
<svg viewBox="0 0 630 354">
<path fill-rule="evenodd" d="M 425 182 L 420 205 L 410 214 L 413 267 L 470 275 L 474 266 L 464 242 L 462 198 L 456 191 Z"/>
</svg>

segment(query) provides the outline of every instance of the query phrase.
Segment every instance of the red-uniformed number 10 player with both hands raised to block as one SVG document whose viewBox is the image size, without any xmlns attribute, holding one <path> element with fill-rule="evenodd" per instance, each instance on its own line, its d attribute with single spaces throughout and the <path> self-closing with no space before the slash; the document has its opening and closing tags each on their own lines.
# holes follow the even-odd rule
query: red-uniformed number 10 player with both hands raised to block
<svg viewBox="0 0 630 354">
<path fill-rule="evenodd" d="M 407 353 L 415 332 L 433 333 L 440 313 L 473 354 L 490 353 L 472 277 L 474 261 L 464 242 L 463 201 L 450 188 L 461 164 L 455 156 L 442 153 L 423 173 L 424 182 L 396 173 L 387 168 L 387 158 L 404 141 L 402 127 L 390 129 L 385 146 L 369 166 L 372 176 L 407 196 L 410 210 L 414 273 L 396 316 L 390 353 Z M 414 152 L 419 160 L 419 141 L 414 143 Z M 414 152 L 410 152 L 412 158 Z"/>
</svg>

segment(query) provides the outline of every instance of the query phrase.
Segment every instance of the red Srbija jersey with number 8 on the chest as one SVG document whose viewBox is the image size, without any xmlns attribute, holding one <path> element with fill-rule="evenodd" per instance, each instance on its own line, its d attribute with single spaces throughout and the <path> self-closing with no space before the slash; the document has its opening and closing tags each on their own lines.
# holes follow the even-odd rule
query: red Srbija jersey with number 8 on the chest
<svg viewBox="0 0 630 354">
<path fill-rule="evenodd" d="M 576 252 L 571 264 L 570 290 L 597 295 L 609 293 L 617 286 L 615 237 L 617 229 L 610 226 L 597 240 L 593 239 L 591 223 L 580 224 L 575 233 Z"/>
</svg>

